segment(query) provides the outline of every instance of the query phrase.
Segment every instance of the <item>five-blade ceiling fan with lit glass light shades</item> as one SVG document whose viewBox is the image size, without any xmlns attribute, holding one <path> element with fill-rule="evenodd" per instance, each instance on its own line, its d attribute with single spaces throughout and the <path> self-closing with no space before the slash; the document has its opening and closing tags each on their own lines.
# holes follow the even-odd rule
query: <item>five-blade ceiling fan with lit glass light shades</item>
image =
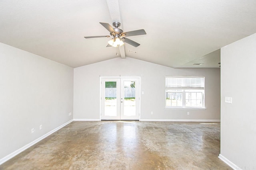
<svg viewBox="0 0 256 170">
<path fill-rule="evenodd" d="M 135 35 L 144 35 L 146 31 L 144 29 L 138 29 L 135 31 L 128 31 L 123 32 L 122 29 L 119 29 L 121 23 L 120 22 L 113 22 L 114 28 L 112 28 L 108 23 L 100 22 L 100 24 L 105 27 L 109 32 L 110 36 L 91 36 L 91 37 L 84 37 L 84 38 L 99 38 L 99 37 L 111 37 L 112 39 L 108 41 L 108 45 L 106 47 L 118 47 L 124 45 L 124 43 L 128 43 L 134 47 L 138 47 L 140 44 L 128 39 L 126 37 L 135 36 Z"/>
</svg>

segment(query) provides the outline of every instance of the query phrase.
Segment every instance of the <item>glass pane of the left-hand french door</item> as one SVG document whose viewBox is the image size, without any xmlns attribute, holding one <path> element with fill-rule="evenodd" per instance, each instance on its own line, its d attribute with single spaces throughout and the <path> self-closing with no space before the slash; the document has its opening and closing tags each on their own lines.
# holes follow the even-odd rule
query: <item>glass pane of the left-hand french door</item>
<svg viewBox="0 0 256 170">
<path fill-rule="evenodd" d="M 116 82 L 105 82 L 105 116 L 117 116 Z"/>
</svg>

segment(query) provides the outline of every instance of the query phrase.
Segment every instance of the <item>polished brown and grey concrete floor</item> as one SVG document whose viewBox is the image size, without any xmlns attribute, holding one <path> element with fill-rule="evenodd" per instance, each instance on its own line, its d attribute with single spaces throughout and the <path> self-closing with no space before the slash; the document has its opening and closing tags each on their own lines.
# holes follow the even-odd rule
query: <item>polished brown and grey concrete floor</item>
<svg viewBox="0 0 256 170">
<path fill-rule="evenodd" d="M 220 123 L 74 121 L 1 170 L 232 170 L 218 158 Z"/>
</svg>

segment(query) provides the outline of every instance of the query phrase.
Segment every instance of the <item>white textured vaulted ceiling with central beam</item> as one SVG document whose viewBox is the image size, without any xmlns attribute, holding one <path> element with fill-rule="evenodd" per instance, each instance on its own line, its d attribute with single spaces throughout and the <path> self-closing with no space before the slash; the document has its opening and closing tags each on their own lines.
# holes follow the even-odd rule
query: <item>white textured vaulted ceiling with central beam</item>
<svg viewBox="0 0 256 170">
<path fill-rule="evenodd" d="M 125 56 L 174 68 L 218 68 L 220 49 L 256 33 L 255 0 L 1 0 L 0 42 L 71 67 L 116 56 L 99 22 L 145 29 Z M 137 53 L 130 53 L 129 51 Z M 193 65 L 194 63 L 204 63 Z"/>
</svg>

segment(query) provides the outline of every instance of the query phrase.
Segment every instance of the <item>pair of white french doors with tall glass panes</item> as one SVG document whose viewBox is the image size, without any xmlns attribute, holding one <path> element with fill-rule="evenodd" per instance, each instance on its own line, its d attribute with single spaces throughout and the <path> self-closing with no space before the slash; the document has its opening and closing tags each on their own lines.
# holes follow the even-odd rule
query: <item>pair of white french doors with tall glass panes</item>
<svg viewBox="0 0 256 170">
<path fill-rule="evenodd" d="M 101 119 L 139 120 L 139 78 L 101 78 Z"/>
</svg>

